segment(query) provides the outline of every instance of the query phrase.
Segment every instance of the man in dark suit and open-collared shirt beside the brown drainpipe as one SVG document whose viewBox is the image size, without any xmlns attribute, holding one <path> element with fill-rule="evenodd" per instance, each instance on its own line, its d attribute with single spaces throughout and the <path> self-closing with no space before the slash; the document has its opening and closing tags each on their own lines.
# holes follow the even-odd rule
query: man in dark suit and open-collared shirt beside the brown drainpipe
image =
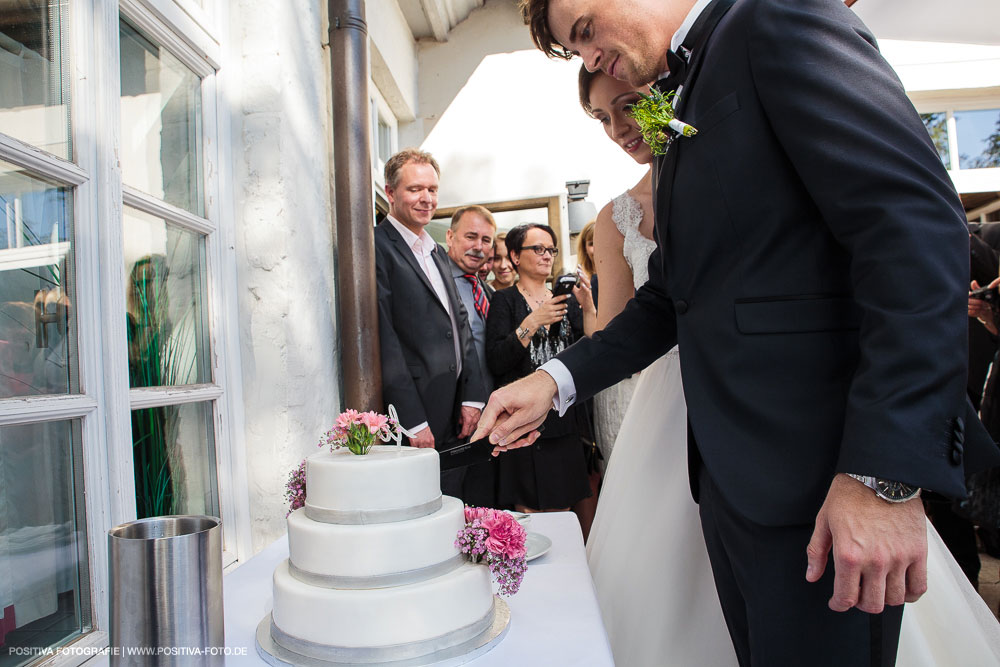
<svg viewBox="0 0 1000 667">
<path fill-rule="evenodd" d="M 468 314 L 443 250 L 424 229 L 437 210 L 440 168 L 429 154 L 400 151 L 385 165 L 389 216 L 375 228 L 382 392 L 414 447 L 446 449 L 475 428 L 486 386 Z M 442 475 L 461 497 L 464 471 Z"/>
</svg>

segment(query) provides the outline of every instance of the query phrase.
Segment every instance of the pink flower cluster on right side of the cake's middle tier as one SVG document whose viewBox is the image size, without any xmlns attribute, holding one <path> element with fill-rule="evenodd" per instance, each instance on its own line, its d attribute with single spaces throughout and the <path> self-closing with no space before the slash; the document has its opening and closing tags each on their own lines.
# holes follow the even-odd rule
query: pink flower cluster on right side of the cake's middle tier
<svg viewBox="0 0 1000 667">
<path fill-rule="evenodd" d="M 458 531 L 455 548 L 473 563 L 483 560 L 502 595 L 513 595 L 528 569 L 528 534 L 507 512 L 488 507 L 466 507 L 465 527 Z"/>
</svg>

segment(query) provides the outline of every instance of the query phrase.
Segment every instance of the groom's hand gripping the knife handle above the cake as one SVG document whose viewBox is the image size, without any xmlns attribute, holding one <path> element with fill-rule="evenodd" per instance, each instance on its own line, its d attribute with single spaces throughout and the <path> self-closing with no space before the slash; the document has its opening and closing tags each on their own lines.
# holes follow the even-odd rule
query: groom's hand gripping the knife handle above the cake
<svg viewBox="0 0 1000 667">
<path fill-rule="evenodd" d="M 535 371 L 497 389 L 483 408 L 472 440 L 489 434 L 494 455 L 534 444 L 539 435 L 535 429 L 545 421 L 557 392 L 555 380 L 545 371 Z"/>
</svg>

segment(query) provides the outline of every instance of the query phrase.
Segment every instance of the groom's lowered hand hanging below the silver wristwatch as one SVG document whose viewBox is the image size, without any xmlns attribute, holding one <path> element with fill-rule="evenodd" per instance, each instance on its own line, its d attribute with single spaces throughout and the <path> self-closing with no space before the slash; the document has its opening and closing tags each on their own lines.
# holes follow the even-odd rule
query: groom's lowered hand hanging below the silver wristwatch
<svg viewBox="0 0 1000 667">
<path fill-rule="evenodd" d="M 818 581 L 833 547 L 830 609 L 877 614 L 927 590 L 927 527 L 919 498 L 888 503 L 845 474 L 833 478 L 806 548 L 806 579 Z"/>
</svg>

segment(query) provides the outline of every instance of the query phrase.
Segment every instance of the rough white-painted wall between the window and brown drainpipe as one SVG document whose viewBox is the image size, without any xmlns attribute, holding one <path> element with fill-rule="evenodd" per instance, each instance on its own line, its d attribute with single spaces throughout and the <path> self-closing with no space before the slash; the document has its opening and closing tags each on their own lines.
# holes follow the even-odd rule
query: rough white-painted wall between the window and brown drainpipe
<svg viewBox="0 0 1000 667">
<path fill-rule="evenodd" d="M 339 407 L 323 0 L 231 6 L 240 353 L 253 550 Z M 237 436 L 239 437 L 239 436 Z"/>
</svg>

